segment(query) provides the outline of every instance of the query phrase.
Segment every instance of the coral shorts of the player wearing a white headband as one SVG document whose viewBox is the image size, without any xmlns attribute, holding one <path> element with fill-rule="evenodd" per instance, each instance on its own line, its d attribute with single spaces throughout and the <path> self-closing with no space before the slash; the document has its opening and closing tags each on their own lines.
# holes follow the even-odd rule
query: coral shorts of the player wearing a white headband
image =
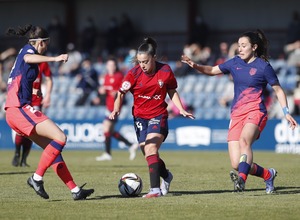
<svg viewBox="0 0 300 220">
<path fill-rule="evenodd" d="M 6 122 L 18 134 L 29 136 L 34 127 L 47 120 L 48 117 L 42 112 L 34 110 L 30 105 L 24 105 L 22 108 L 7 108 Z"/>
</svg>

